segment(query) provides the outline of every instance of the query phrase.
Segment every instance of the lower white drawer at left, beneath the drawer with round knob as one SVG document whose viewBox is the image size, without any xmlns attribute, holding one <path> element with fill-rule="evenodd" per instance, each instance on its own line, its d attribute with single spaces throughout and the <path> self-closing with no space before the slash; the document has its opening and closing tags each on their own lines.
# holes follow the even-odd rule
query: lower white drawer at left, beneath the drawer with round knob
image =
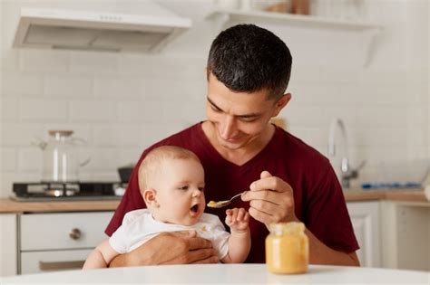
<svg viewBox="0 0 430 285">
<path fill-rule="evenodd" d="M 21 253 L 21 274 L 77 270 L 92 250 L 23 252 Z"/>
</svg>

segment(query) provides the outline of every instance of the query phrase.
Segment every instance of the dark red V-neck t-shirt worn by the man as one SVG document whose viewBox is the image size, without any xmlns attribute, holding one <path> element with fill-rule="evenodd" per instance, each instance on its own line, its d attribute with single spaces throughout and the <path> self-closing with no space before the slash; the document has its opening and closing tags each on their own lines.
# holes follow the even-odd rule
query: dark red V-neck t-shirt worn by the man
<svg viewBox="0 0 430 285">
<path fill-rule="evenodd" d="M 249 190 L 249 185 L 259 179 L 261 171 L 286 181 L 294 191 L 295 212 L 308 230 L 321 242 L 334 250 L 354 252 L 359 248 L 352 228 L 342 188 L 328 159 L 303 141 L 282 128 L 276 128 L 273 138 L 256 157 L 243 166 L 225 160 L 206 138 L 201 123 L 182 130 L 170 138 L 146 149 L 132 171 L 127 190 L 115 211 L 105 233 L 112 233 L 121 225 L 122 217 L 129 211 L 144 208 L 139 192 L 138 168 L 143 157 L 159 146 L 180 146 L 200 157 L 205 170 L 205 197 L 207 201 L 220 201 Z M 231 207 L 249 208 L 249 203 L 234 200 Z M 205 212 L 217 214 L 225 220 L 225 209 L 207 207 Z M 226 227 L 228 229 L 228 227 Z M 252 246 L 247 262 L 265 262 L 266 226 L 250 219 Z"/>
</svg>

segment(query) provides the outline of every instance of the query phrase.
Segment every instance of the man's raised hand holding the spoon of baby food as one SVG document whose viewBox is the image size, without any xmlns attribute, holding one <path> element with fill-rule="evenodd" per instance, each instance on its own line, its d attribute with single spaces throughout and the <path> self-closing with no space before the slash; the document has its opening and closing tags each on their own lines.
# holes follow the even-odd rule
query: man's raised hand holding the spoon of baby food
<svg viewBox="0 0 430 285">
<path fill-rule="evenodd" d="M 270 223 L 298 221 L 294 213 L 293 189 L 287 182 L 263 171 L 249 189 L 241 198 L 249 201 L 249 215 L 257 221 L 267 227 Z"/>
</svg>

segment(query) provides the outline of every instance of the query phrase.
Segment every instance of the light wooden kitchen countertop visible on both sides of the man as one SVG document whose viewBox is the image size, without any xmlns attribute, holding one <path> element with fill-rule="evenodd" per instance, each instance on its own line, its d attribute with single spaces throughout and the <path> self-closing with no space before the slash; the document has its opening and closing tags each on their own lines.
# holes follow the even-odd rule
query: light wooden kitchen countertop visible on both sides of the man
<svg viewBox="0 0 430 285">
<path fill-rule="evenodd" d="M 344 191 L 347 202 L 388 200 L 408 204 L 428 204 L 423 189 L 350 189 Z M 16 202 L 0 199 L 0 213 L 114 211 L 120 200 Z"/>
</svg>

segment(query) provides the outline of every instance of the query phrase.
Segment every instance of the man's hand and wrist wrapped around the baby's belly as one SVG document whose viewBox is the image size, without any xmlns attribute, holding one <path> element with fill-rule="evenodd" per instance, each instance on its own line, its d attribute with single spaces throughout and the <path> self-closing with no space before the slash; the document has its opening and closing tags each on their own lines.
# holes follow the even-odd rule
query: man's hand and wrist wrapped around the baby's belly
<svg viewBox="0 0 430 285">
<path fill-rule="evenodd" d="M 161 233 L 132 252 L 117 256 L 109 267 L 216 262 L 212 244 L 191 231 Z"/>
</svg>

